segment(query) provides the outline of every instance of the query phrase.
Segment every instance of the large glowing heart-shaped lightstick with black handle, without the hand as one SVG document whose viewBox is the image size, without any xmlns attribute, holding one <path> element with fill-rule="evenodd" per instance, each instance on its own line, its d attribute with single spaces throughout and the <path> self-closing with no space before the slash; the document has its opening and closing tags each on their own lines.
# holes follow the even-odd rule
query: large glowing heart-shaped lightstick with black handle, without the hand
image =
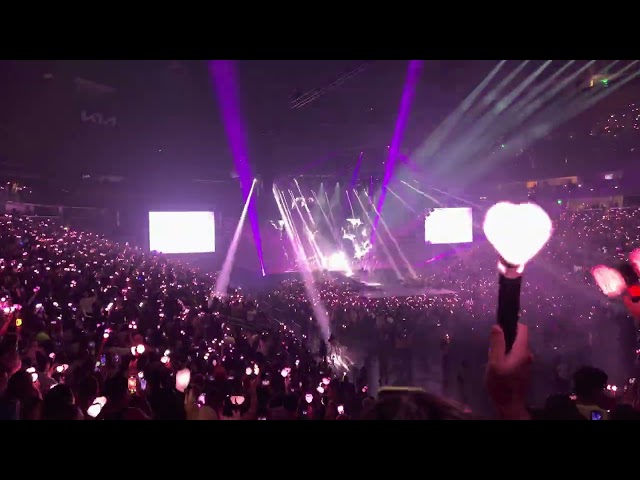
<svg viewBox="0 0 640 480">
<path fill-rule="evenodd" d="M 547 243 L 551 231 L 549 215 L 533 203 L 496 203 L 485 216 L 485 236 L 500 255 L 497 320 L 504 332 L 507 352 L 518 328 L 522 272 Z"/>
</svg>

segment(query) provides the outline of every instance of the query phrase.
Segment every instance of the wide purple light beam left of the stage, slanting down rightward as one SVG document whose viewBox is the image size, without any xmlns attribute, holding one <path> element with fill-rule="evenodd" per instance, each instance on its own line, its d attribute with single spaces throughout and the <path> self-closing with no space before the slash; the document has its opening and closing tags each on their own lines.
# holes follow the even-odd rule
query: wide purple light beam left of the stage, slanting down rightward
<svg viewBox="0 0 640 480">
<path fill-rule="evenodd" d="M 227 140 L 231 148 L 231 154 L 233 155 L 236 173 L 240 178 L 243 201 L 246 202 L 251 192 L 253 174 L 251 173 L 251 166 L 249 165 L 246 129 L 244 128 L 240 113 L 240 95 L 238 92 L 235 65 L 231 60 L 211 60 L 209 62 L 209 75 L 213 81 L 213 86 L 218 98 L 222 122 L 224 123 L 225 133 L 227 134 Z M 260 260 L 260 268 L 262 269 L 262 275 L 264 275 L 262 240 L 260 238 L 260 225 L 256 212 L 255 196 L 253 196 L 249 202 L 248 216 L 258 259 Z"/>
</svg>

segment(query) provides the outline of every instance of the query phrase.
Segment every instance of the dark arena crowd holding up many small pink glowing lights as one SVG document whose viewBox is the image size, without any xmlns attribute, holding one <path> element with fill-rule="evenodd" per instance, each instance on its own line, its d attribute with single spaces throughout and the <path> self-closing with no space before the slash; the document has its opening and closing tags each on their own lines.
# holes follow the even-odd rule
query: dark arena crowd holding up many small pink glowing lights
<svg viewBox="0 0 640 480">
<path fill-rule="evenodd" d="M 635 418 L 633 371 L 614 366 L 614 384 L 581 366 L 610 370 L 595 361 L 610 356 L 597 353 L 611 343 L 607 325 L 617 317 L 633 325 L 597 291 L 589 269 L 638 246 L 638 215 L 562 213 L 525 272 L 523 324 L 508 355 L 492 325 L 496 258 L 483 242 L 420 272 L 452 294 L 369 298 L 348 281 L 320 279 L 333 332 L 327 345 L 299 281 L 212 298 L 212 276 L 162 255 L 6 215 L 0 418 L 472 419 L 482 411 L 478 396 L 490 399 L 483 417 Z M 411 385 L 417 351 L 441 366 L 440 393 L 370 395 L 370 358 L 379 366 L 376 387 Z M 538 368 L 540 359 L 552 368 Z M 531 407 L 532 389 L 544 392 L 539 408 Z"/>
</svg>

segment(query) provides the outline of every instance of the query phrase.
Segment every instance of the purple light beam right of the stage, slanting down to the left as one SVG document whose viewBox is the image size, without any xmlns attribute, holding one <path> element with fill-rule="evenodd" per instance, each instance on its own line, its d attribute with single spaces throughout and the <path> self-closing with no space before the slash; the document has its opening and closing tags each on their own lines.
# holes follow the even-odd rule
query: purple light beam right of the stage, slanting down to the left
<svg viewBox="0 0 640 480">
<path fill-rule="evenodd" d="M 404 83 L 404 89 L 402 91 L 402 99 L 400 100 L 400 111 L 398 112 L 398 119 L 396 120 L 396 127 L 393 131 L 393 139 L 389 147 L 389 156 L 387 157 L 387 166 L 384 171 L 384 178 L 382 179 L 382 186 L 380 187 L 380 198 L 378 199 L 377 213 L 373 222 L 373 229 L 371 231 L 371 241 L 375 237 L 375 231 L 378 228 L 378 221 L 382 214 L 382 207 L 384 206 L 384 200 L 387 196 L 387 185 L 393 177 L 393 171 L 395 168 L 396 160 L 400 154 L 400 145 L 402 144 L 402 137 L 404 130 L 409 120 L 409 112 L 411 112 L 411 104 L 413 103 L 413 97 L 415 97 L 416 86 L 418 79 L 420 78 L 420 72 L 422 71 L 423 60 L 410 60 L 409 67 L 407 69 L 407 79 Z"/>
</svg>

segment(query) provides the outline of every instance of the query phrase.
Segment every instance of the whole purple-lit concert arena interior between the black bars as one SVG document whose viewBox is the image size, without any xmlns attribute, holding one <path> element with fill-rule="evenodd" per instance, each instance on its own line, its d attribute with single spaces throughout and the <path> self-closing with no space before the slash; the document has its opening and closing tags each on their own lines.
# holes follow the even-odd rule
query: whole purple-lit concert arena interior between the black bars
<svg viewBox="0 0 640 480">
<path fill-rule="evenodd" d="M 0 62 L 0 418 L 640 419 L 636 63 Z"/>
</svg>

